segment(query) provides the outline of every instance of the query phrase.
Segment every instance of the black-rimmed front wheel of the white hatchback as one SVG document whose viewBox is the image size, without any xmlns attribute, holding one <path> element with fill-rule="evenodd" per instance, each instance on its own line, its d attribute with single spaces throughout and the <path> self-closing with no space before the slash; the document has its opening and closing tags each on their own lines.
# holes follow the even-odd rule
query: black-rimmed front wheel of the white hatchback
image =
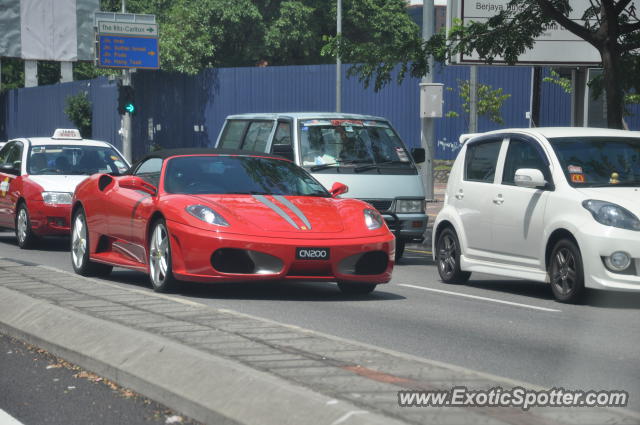
<svg viewBox="0 0 640 425">
<path fill-rule="evenodd" d="M 556 300 L 563 303 L 578 303 L 583 300 L 585 288 L 582 255 L 573 240 L 562 239 L 555 244 L 547 271 Z"/>
</svg>

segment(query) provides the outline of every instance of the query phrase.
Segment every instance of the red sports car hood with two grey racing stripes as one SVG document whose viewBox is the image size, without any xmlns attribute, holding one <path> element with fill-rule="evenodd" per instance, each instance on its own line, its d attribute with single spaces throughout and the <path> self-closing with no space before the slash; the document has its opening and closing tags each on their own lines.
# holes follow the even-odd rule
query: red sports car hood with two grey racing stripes
<svg viewBox="0 0 640 425">
<path fill-rule="evenodd" d="M 339 233 L 344 223 L 333 198 L 280 195 L 197 195 L 232 225 L 262 232 Z"/>
</svg>

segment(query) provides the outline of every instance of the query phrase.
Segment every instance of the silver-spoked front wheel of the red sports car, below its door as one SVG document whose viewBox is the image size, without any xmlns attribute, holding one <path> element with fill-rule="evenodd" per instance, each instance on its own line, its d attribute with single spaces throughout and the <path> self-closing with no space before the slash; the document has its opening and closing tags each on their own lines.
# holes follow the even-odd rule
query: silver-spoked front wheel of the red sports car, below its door
<svg viewBox="0 0 640 425">
<path fill-rule="evenodd" d="M 159 232 L 160 236 L 157 236 L 157 232 Z M 164 243 L 155 238 L 160 238 Z M 164 219 L 156 220 L 151 226 L 149 237 L 149 280 L 153 290 L 156 292 L 171 292 L 178 285 L 178 281 L 173 276 L 171 243 Z"/>
</svg>

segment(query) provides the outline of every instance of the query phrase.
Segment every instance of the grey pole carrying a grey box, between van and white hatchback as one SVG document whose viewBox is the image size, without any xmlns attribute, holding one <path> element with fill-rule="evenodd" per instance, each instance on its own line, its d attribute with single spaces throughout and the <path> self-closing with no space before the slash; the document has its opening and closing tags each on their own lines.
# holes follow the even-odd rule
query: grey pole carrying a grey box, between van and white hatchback
<svg viewBox="0 0 640 425">
<path fill-rule="evenodd" d="M 434 34 L 434 6 L 433 0 L 424 0 L 422 4 L 422 40 L 429 40 Z M 433 83 L 433 57 L 428 58 L 429 71 L 422 77 L 422 83 Z M 425 162 L 422 179 L 425 188 L 425 199 L 434 201 L 433 190 L 433 139 L 435 134 L 435 119 L 420 118 L 420 144 L 425 150 Z"/>
</svg>

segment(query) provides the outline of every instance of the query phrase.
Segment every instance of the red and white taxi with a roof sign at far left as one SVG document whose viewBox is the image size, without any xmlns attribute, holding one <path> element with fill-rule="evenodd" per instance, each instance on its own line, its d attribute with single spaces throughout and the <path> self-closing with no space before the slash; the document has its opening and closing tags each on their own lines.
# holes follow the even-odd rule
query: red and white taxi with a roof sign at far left
<svg viewBox="0 0 640 425">
<path fill-rule="evenodd" d="M 0 227 L 15 229 L 20 248 L 39 236 L 68 235 L 76 186 L 94 173 L 128 169 L 115 147 L 82 139 L 76 129 L 9 140 L 0 149 Z"/>
</svg>

